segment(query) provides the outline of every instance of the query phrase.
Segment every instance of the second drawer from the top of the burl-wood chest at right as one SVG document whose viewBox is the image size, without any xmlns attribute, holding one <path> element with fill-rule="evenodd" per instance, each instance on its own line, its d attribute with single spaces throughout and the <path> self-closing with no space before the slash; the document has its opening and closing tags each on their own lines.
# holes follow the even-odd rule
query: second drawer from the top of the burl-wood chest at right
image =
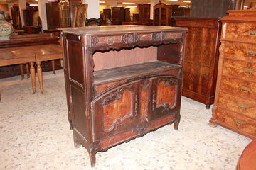
<svg viewBox="0 0 256 170">
<path fill-rule="evenodd" d="M 256 62 L 256 45 L 240 42 L 226 42 L 225 57 Z"/>
</svg>

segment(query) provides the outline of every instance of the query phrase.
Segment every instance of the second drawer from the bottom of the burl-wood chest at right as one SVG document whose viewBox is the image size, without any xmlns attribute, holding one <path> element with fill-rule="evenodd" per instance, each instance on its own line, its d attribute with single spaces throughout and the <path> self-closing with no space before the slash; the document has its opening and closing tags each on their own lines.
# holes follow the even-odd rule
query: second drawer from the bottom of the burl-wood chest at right
<svg viewBox="0 0 256 170">
<path fill-rule="evenodd" d="M 256 101 L 245 100 L 245 98 L 225 94 L 223 91 L 220 91 L 218 106 L 256 119 Z"/>
</svg>

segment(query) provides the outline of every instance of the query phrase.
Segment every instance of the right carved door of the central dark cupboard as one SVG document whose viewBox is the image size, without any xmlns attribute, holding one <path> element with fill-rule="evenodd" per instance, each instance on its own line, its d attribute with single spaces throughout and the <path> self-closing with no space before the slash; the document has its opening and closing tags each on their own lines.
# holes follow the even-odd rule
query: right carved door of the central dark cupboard
<svg viewBox="0 0 256 170">
<path fill-rule="evenodd" d="M 180 108 L 181 79 L 176 77 L 157 77 L 152 79 L 150 120 L 158 120 L 174 114 Z"/>
</svg>

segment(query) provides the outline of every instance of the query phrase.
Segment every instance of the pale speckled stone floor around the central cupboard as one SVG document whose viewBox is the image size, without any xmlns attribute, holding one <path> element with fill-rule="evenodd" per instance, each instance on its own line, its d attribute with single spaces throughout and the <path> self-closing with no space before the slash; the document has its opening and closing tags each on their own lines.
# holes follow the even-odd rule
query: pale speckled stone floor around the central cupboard
<svg viewBox="0 0 256 170">
<path fill-rule="evenodd" d="M 31 94 L 30 79 L 0 79 L 0 169 L 92 169 L 87 150 L 73 145 L 63 71 L 43 73 L 43 84 L 44 94 L 38 89 Z M 220 126 L 210 128 L 210 117 L 205 105 L 183 97 L 178 131 L 166 125 L 98 152 L 93 169 L 235 170 L 251 140 Z"/>
</svg>

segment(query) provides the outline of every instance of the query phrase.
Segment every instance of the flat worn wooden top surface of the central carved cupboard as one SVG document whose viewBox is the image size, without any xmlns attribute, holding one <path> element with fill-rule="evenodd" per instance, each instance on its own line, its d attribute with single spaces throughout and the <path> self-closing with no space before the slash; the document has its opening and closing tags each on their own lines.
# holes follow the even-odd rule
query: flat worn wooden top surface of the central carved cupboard
<svg viewBox="0 0 256 170">
<path fill-rule="evenodd" d="M 63 33 L 71 33 L 77 35 L 112 35 L 118 33 L 143 33 L 143 32 L 159 32 L 159 31 L 186 31 L 186 28 L 170 27 L 170 26 L 93 26 L 93 27 L 76 27 L 76 28 L 59 28 Z"/>
</svg>

